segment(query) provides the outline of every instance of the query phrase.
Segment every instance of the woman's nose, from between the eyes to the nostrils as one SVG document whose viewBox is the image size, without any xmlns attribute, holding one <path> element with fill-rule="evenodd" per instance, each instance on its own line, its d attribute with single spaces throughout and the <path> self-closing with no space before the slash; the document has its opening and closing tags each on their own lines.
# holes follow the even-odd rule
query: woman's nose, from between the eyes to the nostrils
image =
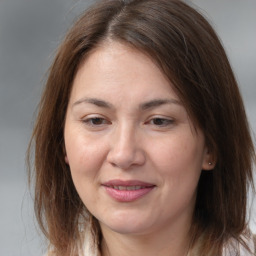
<svg viewBox="0 0 256 256">
<path fill-rule="evenodd" d="M 107 160 L 111 165 L 123 170 L 145 163 L 145 152 L 142 148 L 139 132 L 133 127 L 117 128 L 111 136 Z"/>
</svg>

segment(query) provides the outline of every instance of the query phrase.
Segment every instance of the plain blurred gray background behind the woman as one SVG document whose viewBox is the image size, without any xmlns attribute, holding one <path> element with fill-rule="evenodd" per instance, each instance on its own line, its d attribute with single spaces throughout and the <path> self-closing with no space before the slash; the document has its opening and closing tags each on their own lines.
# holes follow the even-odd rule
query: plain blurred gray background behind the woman
<svg viewBox="0 0 256 256">
<path fill-rule="evenodd" d="M 0 255 L 43 254 L 27 188 L 25 151 L 57 45 L 90 2 L 0 0 Z M 256 131 L 256 0 L 191 2 L 222 39 Z"/>
</svg>

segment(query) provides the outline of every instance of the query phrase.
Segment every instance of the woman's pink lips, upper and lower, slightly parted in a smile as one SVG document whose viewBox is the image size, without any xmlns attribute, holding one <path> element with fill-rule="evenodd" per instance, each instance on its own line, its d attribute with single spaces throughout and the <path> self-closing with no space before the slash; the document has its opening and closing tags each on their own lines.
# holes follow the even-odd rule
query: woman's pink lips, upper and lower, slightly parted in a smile
<svg viewBox="0 0 256 256">
<path fill-rule="evenodd" d="M 129 181 L 122 181 L 122 180 L 110 180 L 106 183 L 102 184 L 108 195 L 110 195 L 113 199 L 119 201 L 119 202 L 132 202 L 135 201 L 146 194 L 148 194 L 155 185 L 142 182 L 138 180 L 129 180 Z M 142 188 L 136 189 L 136 190 L 119 190 L 114 187 L 116 186 L 140 186 Z"/>
</svg>

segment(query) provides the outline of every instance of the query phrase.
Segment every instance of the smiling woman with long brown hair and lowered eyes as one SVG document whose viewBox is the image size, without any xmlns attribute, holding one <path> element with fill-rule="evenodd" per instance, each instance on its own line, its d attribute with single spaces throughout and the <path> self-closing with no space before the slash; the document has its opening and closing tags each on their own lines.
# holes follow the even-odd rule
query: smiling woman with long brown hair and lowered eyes
<svg viewBox="0 0 256 256">
<path fill-rule="evenodd" d="M 48 255 L 255 255 L 255 152 L 211 26 L 173 0 L 103 1 L 67 34 L 32 137 Z"/>
</svg>

